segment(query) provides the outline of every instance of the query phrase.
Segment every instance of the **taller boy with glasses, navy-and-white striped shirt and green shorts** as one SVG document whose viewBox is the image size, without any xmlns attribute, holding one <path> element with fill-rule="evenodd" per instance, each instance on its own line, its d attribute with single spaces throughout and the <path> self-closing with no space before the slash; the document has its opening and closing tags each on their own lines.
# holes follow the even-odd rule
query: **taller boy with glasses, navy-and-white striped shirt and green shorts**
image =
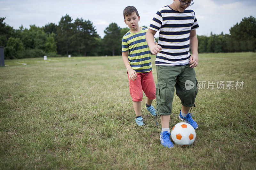
<svg viewBox="0 0 256 170">
<path fill-rule="evenodd" d="M 189 108 L 195 103 L 197 80 L 194 67 L 197 66 L 198 28 L 195 12 L 187 9 L 192 0 L 173 0 L 172 4 L 159 9 L 151 21 L 146 40 L 152 54 L 156 55 L 156 113 L 161 115 L 161 144 L 172 148 L 170 140 L 170 115 L 174 86 L 181 100 L 179 118 L 197 129 L 197 123 L 191 118 Z M 154 35 L 159 32 L 158 44 L 154 44 Z M 189 47 L 192 55 L 189 53 Z M 193 88 L 188 84 L 194 85 Z"/>
</svg>

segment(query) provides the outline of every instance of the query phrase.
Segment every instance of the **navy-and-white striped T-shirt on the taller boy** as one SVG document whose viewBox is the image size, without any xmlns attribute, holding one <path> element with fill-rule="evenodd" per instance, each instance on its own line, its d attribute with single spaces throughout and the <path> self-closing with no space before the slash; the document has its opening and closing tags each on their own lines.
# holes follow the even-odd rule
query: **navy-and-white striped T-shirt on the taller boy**
<svg viewBox="0 0 256 170">
<path fill-rule="evenodd" d="M 156 65 L 188 64 L 190 30 L 198 27 L 195 12 L 189 8 L 184 12 L 175 11 L 168 5 L 159 9 L 149 26 L 160 31 L 158 45 L 162 50 L 156 55 Z"/>
</svg>

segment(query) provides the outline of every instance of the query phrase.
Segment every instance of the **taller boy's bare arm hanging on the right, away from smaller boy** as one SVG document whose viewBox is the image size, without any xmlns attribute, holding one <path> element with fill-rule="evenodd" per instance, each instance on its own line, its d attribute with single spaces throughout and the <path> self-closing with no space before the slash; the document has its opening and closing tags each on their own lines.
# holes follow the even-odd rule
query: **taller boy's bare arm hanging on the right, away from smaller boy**
<svg viewBox="0 0 256 170">
<path fill-rule="evenodd" d="M 196 67 L 198 65 L 198 52 L 197 52 L 197 36 L 196 36 L 196 30 L 191 30 L 190 31 L 190 35 L 189 35 L 189 39 L 190 39 L 190 49 L 192 52 L 192 55 L 190 56 L 190 63 L 191 64 L 189 67 Z"/>
</svg>

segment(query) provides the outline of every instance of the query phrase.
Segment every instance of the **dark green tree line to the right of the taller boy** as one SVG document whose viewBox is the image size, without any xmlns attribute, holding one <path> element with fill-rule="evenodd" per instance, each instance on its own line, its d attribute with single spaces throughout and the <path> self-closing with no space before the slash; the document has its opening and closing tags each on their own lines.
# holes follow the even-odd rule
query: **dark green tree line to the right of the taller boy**
<svg viewBox="0 0 256 170">
<path fill-rule="evenodd" d="M 256 20 L 245 17 L 229 29 L 229 34 L 211 33 L 197 38 L 199 53 L 256 52 Z"/>
</svg>

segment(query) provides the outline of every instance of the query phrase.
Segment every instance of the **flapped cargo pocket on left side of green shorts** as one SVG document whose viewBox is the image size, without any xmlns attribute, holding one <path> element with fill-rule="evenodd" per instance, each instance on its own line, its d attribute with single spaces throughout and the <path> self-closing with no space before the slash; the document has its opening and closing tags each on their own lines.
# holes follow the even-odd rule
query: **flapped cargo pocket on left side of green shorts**
<svg viewBox="0 0 256 170">
<path fill-rule="evenodd" d="M 166 82 L 157 82 L 156 84 L 156 103 L 167 104 L 168 103 L 168 88 Z"/>
</svg>

